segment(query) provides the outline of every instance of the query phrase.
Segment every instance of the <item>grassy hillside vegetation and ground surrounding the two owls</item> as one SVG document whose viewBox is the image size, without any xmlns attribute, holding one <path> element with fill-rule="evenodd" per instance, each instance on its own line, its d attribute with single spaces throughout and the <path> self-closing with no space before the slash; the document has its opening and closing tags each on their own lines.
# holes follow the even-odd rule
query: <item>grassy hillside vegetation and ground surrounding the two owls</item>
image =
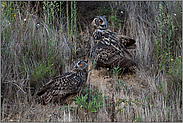
<svg viewBox="0 0 183 123">
<path fill-rule="evenodd" d="M 109 29 L 136 40 L 131 52 L 148 69 L 92 70 L 74 105 L 37 104 L 46 82 L 70 71 L 71 61 L 88 60 L 91 18 L 98 15 L 106 16 Z M 2 122 L 182 122 L 181 116 L 182 1 L 1 1 Z"/>
</svg>

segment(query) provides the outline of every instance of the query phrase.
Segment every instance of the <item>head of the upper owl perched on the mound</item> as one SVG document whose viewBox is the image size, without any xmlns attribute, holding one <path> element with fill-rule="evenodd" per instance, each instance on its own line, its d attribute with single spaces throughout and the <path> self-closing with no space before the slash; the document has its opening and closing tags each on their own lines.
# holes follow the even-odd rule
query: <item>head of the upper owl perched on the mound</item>
<svg viewBox="0 0 183 123">
<path fill-rule="evenodd" d="M 104 16 L 96 16 L 92 20 L 91 25 L 94 29 L 107 29 L 107 19 Z"/>
</svg>

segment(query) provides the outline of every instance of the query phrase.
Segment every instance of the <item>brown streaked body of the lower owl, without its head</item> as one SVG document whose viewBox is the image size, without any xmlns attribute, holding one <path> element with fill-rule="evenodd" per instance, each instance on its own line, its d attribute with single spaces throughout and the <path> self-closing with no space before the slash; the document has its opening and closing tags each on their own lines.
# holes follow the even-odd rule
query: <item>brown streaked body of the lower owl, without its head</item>
<svg viewBox="0 0 183 123">
<path fill-rule="evenodd" d="M 86 71 L 73 71 L 55 77 L 37 93 L 38 103 L 47 104 L 54 98 L 58 100 L 67 94 L 78 93 L 86 82 L 87 75 Z"/>
</svg>

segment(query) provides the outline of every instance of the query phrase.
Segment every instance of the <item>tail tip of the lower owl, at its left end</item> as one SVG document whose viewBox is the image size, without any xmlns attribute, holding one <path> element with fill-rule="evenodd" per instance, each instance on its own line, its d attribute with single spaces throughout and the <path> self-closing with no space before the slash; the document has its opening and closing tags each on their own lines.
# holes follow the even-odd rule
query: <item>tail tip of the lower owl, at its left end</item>
<svg viewBox="0 0 183 123">
<path fill-rule="evenodd" d="M 36 99 L 36 102 L 42 105 L 47 105 L 49 102 L 51 102 L 52 98 L 53 98 L 53 95 L 43 94 Z"/>
</svg>

